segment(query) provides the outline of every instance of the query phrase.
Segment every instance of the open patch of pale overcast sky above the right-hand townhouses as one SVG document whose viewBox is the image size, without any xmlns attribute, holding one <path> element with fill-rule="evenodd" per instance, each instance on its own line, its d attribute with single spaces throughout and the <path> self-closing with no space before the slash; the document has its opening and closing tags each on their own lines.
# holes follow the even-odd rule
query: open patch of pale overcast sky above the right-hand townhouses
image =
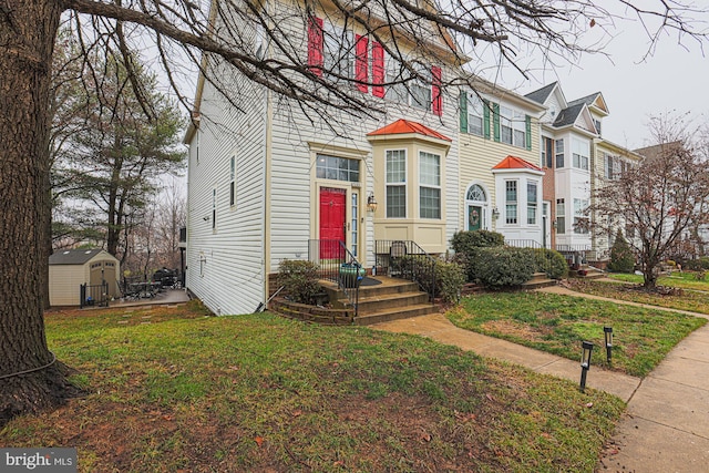
<svg viewBox="0 0 709 473">
<path fill-rule="evenodd" d="M 616 20 L 614 27 L 587 32 L 590 42 L 602 41 L 604 35 L 607 44 L 602 50 L 608 56 L 584 54 L 571 61 L 573 64 L 556 61 L 556 68 L 542 66 L 536 58 L 535 62 L 530 60 L 533 70 L 528 80 L 505 71 L 496 81 L 521 94 L 559 81 L 567 101 L 600 92 L 610 112 L 603 121 L 604 138 L 630 150 L 654 144 L 647 126 L 650 116 L 689 113 L 691 125 L 707 122 L 709 58 L 702 45 L 687 37 L 679 44 L 676 33 L 666 33 L 654 53 L 644 59 L 649 42 L 639 22 Z M 709 54 L 709 43 L 706 47 Z"/>
</svg>

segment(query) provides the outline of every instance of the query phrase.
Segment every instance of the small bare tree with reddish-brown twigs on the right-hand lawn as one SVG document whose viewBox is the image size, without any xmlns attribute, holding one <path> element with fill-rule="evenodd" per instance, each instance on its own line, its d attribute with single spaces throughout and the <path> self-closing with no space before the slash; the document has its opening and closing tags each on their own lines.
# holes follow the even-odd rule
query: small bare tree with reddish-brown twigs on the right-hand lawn
<svg viewBox="0 0 709 473">
<path fill-rule="evenodd" d="M 594 191 L 593 225 L 625 232 L 648 290 L 656 287 L 658 265 L 678 245 L 700 243 L 696 229 L 709 224 L 709 162 L 682 123 L 654 119 L 658 144 L 637 150 L 644 156 L 637 167 Z"/>
</svg>

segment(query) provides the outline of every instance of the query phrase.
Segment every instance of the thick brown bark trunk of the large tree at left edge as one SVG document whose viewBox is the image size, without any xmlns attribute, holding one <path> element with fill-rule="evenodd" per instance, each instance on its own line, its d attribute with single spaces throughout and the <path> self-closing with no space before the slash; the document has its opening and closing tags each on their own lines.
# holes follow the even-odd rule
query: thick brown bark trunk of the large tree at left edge
<svg viewBox="0 0 709 473">
<path fill-rule="evenodd" d="M 61 12 L 56 0 L 13 0 L 0 14 L 0 425 L 74 392 L 52 363 L 42 317 L 49 91 Z"/>
</svg>

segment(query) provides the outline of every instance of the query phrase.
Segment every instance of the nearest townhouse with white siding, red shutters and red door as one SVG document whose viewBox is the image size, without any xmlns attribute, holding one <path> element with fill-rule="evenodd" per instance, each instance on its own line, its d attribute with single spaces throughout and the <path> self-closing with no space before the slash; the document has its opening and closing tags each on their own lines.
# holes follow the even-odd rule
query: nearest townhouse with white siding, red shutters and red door
<svg viewBox="0 0 709 473">
<path fill-rule="evenodd" d="M 458 228 L 461 199 L 458 187 L 446 185 L 459 176 L 456 99 L 436 85 L 452 66 L 429 63 L 423 73 L 430 81 L 384 86 L 398 64 L 357 22 L 312 6 L 307 17 L 288 2 L 267 1 L 264 8 L 289 43 L 301 45 L 311 70 L 357 78 L 361 83 L 345 86 L 357 86 L 362 100 L 387 112 L 352 117 L 327 111 L 335 122 L 306 116 L 292 100 L 210 63 L 222 83 L 230 80 L 240 91 L 236 106 L 201 78 L 185 136 L 186 286 L 216 313 L 260 308 L 281 260 L 329 257 L 317 249 L 319 241 L 345 241 L 371 267 L 376 239 L 412 240 L 441 254 Z M 249 25 L 243 30 L 248 40 Z M 275 54 L 258 28 L 251 39 L 255 52 Z"/>
</svg>

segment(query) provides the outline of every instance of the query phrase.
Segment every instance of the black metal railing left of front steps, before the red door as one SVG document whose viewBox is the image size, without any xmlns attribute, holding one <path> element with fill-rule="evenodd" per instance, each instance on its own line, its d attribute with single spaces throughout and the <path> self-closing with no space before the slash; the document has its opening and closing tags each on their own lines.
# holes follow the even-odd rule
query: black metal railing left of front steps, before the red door
<svg viewBox="0 0 709 473">
<path fill-rule="evenodd" d="M 308 260 L 318 265 L 320 279 L 336 282 L 359 315 L 359 285 L 364 269 L 339 239 L 308 240 Z"/>
</svg>

